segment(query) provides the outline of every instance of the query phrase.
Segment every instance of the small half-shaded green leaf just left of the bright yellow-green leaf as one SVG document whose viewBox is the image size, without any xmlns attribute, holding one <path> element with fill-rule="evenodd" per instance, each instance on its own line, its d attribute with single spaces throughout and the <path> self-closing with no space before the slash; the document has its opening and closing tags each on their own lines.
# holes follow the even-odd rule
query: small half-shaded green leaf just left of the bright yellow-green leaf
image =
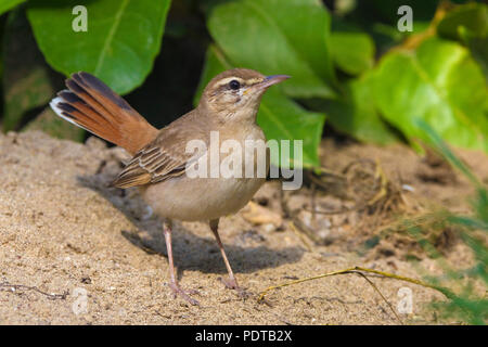
<svg viewBox="0 0 488 347">
<path fill-rule="evenodd" d="M 357 140 L 387 144 L 396 140 L 374 104 L 374 76 L 371 72 L 345 83 L 345 95 L 339 100 L 321 100 L 310 104 L 324 110 L 335 129 Z"/>
</svg>

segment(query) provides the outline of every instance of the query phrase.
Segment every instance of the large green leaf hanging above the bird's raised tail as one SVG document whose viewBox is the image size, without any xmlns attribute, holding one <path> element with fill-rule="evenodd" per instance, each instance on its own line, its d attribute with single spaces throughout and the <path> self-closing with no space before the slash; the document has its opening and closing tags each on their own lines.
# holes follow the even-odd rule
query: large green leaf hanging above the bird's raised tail
<svg viewBox="0 0 488 347">
<path fill-rule="evenodd" d="M 78 0 L 31 0 L 28 18 L 48 63 L 69 75 L 86 70 L 118 93 L 140 86 L 159 51 L 170 0 L 99 0 L 86 4 L 88 30 L 75 31 Z"/>
</svg>

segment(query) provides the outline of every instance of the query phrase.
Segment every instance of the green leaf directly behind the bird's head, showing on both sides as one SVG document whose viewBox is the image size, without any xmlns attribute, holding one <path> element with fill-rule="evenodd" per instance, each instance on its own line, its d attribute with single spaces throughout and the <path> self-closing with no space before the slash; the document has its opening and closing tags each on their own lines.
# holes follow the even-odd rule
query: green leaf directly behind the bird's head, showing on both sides
<svg viewBox="0 0 488 347">
<path fill-rule="evenodd" d="M 229 68 L 232 68 L 232 66 L 226 61 L 222 52 L 211 46 L 207 51 L 207 60 L 196 92 L 195 104 L 207 82 L 217 74 Z M 257 117 L 257 121 L 268 140 L 303 140 L 304 167 L 317 167 L 320 164 L 317 151 L 324 119 L 323 114 L 308 112 L 287 99 L 277 86 L 270 88 L 264 95 Z M 291 158 L 294 158 L 293 153 L 291 153 Z M 272 156 L 271 163 L 278 166 L 280 158 Z"/>
</svg>

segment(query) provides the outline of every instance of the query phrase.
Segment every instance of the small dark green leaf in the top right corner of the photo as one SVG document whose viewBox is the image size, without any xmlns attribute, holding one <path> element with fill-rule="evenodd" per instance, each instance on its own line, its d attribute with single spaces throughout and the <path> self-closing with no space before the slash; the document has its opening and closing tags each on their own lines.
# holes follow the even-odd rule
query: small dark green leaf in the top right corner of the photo
<svg viewBox="0 0 488 347">
<path fill-rule="evenodd" d="M 448 12 L 437 25 L 441 37 L 460 40 L 460 29 L 464 28 L 476 37 L 488 33 L 488 7 L 481 3 L 468 3 Z"/>
</svg>

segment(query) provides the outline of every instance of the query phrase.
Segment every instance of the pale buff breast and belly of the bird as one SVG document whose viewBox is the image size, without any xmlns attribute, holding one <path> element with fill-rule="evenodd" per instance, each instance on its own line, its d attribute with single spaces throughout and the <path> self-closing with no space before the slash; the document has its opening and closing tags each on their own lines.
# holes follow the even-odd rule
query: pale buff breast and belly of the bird
<svg viewBox="0 0 488 347">
<path fill-rule="evenodd" d="M 162 217 L 187 221 L 216 219 L 244 207 L 269 169 L 262 130 L 246 130 L 220 133 L 218 160 L 210 158 L 215 149 L 209 147 L 200 163 L 207 165 L 203 175 L 194 171 L 192 177 L 184 174 L 143 188 L 146 203 Z"/>
</svg>

